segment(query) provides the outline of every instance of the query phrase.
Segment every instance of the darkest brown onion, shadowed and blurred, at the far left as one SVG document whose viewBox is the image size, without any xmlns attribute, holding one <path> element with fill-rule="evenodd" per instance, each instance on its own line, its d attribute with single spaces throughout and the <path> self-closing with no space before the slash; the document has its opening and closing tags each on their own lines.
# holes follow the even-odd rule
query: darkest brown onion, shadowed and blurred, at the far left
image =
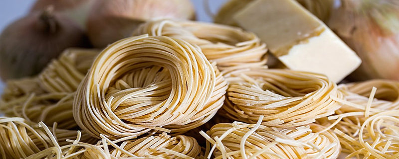
<svg viewBox="0 0 399 159">
<path fill-rule="evenodd" d="M 32 76 L 69 47 L 88 45 L 73 21 L 48 7 L 8 25 L 0 35 L 0 77 L 3 80 Z"/>
</svg>

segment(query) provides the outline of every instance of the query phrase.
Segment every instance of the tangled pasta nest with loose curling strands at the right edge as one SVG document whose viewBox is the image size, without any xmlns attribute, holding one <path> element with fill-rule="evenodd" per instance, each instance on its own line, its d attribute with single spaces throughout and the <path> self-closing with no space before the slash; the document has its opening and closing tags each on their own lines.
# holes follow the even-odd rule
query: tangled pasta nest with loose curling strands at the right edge
<svg viewBox="0 0 399 159">
<path fill-rule="evenodd" d="M 398 158 L 399 82 L 374 79 L 339 87 L 344 100 L 335 100 L 343 106 L 317 122 L 334 130 L 347 158 Z"/>
</svg>

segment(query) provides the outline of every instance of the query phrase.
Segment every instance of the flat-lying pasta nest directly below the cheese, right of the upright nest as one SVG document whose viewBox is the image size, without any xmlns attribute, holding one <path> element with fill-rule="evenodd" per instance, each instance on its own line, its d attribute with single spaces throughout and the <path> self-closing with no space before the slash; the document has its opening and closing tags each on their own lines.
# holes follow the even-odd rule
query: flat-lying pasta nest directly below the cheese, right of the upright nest
<svg viewBox="0 0 399 159">
<path fill-rule="evenodd" d="M 222 107 L 237 121 L 273 127 L 302 126 L 334 113 L 342 98 L 337 85 L 327 77 L 290 70 L 251 68 L 225 75 L 229 82 Z"/>
</svg>

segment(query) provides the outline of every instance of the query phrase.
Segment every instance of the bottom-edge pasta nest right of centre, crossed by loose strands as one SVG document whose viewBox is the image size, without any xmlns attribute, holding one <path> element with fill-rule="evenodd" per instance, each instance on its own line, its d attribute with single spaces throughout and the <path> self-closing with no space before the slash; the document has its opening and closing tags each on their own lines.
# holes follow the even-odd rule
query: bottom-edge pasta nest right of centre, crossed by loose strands
<svg viewBox="0 0 399 159">
<path fill-rule="evenodd" d="M 206 156 L 214 159 L 337 159 L 341 147 L 330 130 L 311 124 L 291 129 L 272 129 L 241 122 L 221 123 L 201 134 L 211 144 Z"/>
</svg>

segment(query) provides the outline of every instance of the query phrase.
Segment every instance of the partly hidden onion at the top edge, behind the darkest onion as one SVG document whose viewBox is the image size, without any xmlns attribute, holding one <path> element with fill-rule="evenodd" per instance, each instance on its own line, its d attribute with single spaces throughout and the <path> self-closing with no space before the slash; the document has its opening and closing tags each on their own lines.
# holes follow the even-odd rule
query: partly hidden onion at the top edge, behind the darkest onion
<svg viewBox="0 0 399 159">
<path fill-rule="evenodd" d="M 87 14 L 93 2 L 94 0 L 36 0 L 30 8 L 30 12 L 40 11 L 52 5 L 54 11 L 71 18 L 84 28 Z"/>
</svg>

